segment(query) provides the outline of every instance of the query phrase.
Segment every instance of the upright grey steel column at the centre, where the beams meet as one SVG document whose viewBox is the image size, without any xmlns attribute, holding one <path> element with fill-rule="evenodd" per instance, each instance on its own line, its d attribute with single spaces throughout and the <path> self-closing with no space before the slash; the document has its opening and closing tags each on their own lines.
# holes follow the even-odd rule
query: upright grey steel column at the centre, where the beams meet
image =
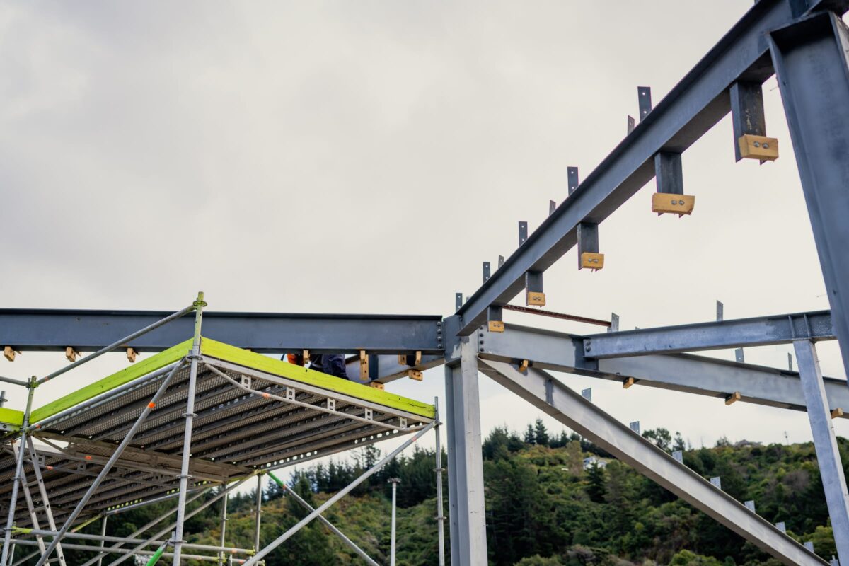
<svg viewBox="0 0 849 566">
<path fill-rule="evenodd" d="M 474 338 L 474 337 L 473 337 Z M 451 563 L 486 564 L 477 351 L 460 339 L 460 365 L 446 368 Z"/>
</svg>

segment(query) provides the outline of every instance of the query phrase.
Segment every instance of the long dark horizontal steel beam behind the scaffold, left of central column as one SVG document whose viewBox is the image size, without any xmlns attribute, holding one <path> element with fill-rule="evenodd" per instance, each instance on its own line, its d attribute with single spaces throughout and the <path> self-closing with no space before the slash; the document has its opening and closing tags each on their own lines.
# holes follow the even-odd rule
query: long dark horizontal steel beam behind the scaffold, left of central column
<svg viewBox="0 0 849 566">
<path fill-rule="evenodd" d="M 98 350 L 171 314 L 165 311 L 0 309 L 0 346 L 15 350 Z M 183 317 L 132 340 L 138 352 L 170 348 L 194 333 Z M 442 352 L 438 316 L 204 312 L 204 336 L 250 350 L 273 353 L 428 354 Z"/>
</svg>

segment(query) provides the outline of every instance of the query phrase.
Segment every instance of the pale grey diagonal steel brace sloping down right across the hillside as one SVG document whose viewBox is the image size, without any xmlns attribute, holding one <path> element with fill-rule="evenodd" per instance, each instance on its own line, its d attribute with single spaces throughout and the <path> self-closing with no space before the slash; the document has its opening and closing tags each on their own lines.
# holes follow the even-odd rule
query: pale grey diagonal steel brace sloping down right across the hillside
<svg viewBox="0 0 849 566">
<path fill-rule="evenodd" d="M 481 361 L 481 371 L 781 562 L 807 566 L 825 564 L 766 519 L 717 490 L 666 451 L 633 434 L 548 373 L 529 368 L 523 374 L 502 361 Z"/>
</svg>

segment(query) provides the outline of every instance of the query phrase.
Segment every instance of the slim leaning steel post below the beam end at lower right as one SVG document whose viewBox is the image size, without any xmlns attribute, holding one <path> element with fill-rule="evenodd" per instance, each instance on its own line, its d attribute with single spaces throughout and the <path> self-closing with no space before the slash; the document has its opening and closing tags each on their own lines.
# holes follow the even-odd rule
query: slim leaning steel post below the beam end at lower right
<svg viewBox="0 0 849 566">
<path fill-rule="evenodd" d="M 823 373 L 819 369 L 817 347 L 809 340 L 797 340 L 793 348 L 796 350 L 802 390 L 805 392 L 807 418 L 811 422 L 813 446 L 817 451 L 819 474 L 823 480 L 837 555 L 841 563 L 849 564 L 849 491 L 846 490 L 841 452 L 837 448 L 835 429 L 831 423 L 831 409 L 825 395 Z"/>
</svg>

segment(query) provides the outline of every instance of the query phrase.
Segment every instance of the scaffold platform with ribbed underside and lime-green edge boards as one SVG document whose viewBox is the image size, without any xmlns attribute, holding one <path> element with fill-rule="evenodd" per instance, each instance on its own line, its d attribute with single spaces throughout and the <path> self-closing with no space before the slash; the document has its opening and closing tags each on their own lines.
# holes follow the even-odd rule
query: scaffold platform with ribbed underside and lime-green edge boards
<svg viewBox="0 0 849 566">
<path fill-rule="evenodd" d="M 132 442 L 76 518 L 88 518 L 179 489 L 192 339 L 33 409 L 35 463 L 57 523 L 63 523 L 115 447 L 177 367 Z M 197 361 L 189 489 L 228 485 L 257 470 L 408 434 L 433 422 L 435 407 L 202 338 Z M 0 410 L 0 502 L 10 500 L 24 413 Z M 34 426 L 33 426 L 34 425 Z M 33 459 L 24 473 L 39 505 Z M 7 504 L 8 505 L 8 504 Z M 8 513 L 8 508 L 3 509 Z M 30 527 L 18 499 L 15 524 Z"/>
</svg>

